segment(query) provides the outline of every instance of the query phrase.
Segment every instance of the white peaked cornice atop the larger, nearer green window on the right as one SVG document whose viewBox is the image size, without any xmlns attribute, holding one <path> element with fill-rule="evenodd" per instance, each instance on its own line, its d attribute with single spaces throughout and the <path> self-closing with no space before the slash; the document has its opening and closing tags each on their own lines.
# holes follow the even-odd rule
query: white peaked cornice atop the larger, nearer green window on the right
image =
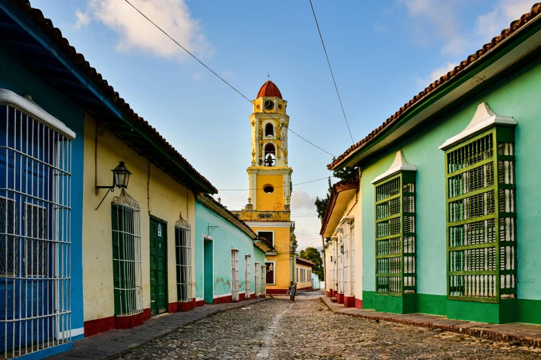
<svg viewBox="0 0 541 360">
<path fill-rule="evenodd" d="M 517 121 L 513 119 L 513 117 L 502 117 L 497 115 L 488 107 L 487 103 L 480 103 L 479 106 L 477 106 L 475 115 L 473 115 L 473 119 L 471 119 L 469 125 L 458 135 L 447 139 L 447 141 L 439 148 L 445 150 L 446 148 L 455 145 L 455 143 L 468 139 L 468 137 L 473 137 L 473 135 L 478 132 L 494 125 L 515 126 L 517 125 Z"/>
</svg>

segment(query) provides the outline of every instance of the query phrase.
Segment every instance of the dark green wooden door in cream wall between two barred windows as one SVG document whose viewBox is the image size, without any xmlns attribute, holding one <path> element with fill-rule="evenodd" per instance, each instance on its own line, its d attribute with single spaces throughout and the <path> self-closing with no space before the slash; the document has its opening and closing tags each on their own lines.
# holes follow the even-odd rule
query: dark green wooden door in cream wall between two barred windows
<svg viewBox="0 0 541 360">
<path fill-rule="evenodd" d="M 167 311 L 167 223 L 150 220 L 151 314 Z"/>
</svg>

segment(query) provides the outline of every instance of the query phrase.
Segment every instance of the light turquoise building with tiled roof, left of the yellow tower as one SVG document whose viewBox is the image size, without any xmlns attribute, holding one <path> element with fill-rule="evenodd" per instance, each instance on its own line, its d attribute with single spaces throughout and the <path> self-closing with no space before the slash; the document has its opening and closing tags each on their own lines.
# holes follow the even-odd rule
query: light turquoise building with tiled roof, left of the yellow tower
<svg viewBox="0 0 541 360">
<path fill-rule="evenodd" d="M 196 199 L 196 305 L 265 296 L 272 245 L 207 194 Z"/>
</svg>

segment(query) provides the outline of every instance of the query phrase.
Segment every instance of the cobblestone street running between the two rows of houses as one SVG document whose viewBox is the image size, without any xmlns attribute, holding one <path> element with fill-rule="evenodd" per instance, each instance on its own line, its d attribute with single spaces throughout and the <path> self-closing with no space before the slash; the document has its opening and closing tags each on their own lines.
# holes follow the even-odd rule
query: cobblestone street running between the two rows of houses
<svg viewBox="0 0 541 360">
<path fill-rule="evenodd" d="M 115 359 L 540 359 L 541 350 L 333 314 L 310 294 L 220 312 Z"/>
</svg>

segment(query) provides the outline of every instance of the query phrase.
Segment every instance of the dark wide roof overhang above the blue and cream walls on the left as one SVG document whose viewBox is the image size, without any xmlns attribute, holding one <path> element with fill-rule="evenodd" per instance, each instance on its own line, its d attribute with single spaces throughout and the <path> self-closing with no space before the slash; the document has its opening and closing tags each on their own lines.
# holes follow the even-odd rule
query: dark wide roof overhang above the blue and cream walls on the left
<svg viewBox="0 0 541 360">
<path fill-rule="evenodd" d="M 193 192 L 218 192 L 28 1 L 0 1 L 0 46 L 175 181 Z"/>
</svg>

